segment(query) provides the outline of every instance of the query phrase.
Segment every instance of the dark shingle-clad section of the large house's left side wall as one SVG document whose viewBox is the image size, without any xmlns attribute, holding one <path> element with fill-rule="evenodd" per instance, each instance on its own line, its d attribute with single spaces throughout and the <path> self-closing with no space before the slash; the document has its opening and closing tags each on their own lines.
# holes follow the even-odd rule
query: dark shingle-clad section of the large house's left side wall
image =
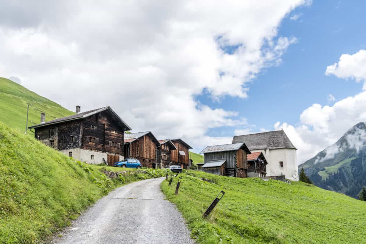
<svg viewBox="0 0 366 244">
<path fill-rule="evenodd" d="M 81 120 L 69 121 L 59 124 L 58 150 L 80 148 L 82 143 Z"/>
</svg>

